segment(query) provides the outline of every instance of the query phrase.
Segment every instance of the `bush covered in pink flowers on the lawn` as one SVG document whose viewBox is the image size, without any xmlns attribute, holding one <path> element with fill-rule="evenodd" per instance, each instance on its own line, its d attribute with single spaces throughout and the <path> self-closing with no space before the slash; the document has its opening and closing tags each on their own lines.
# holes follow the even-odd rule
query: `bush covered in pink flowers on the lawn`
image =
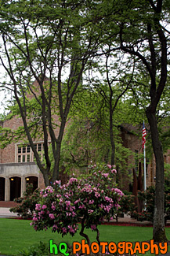
<svg viewBox="0 0 170 256">
<path fill-rule="evenodd" d="M 99 242 L 97 226 L 104 217 L 109 221 L 117 213 L 123 193 L 115 187 L 116 170 L 111 165 L 91 165 L 89 173 L 79 179 L 73 176 L 63 186 L 56 181 L 55 189 L 46 187 L 40 192 L 42 196 L 31 222 L 35 230 L 52 228 L 52 232 L 62 236 L 74 236 L 81 222 L 80 235 L 90 243 L 84 229 L 91 228 L 97 232 Z"/>
</svg>

